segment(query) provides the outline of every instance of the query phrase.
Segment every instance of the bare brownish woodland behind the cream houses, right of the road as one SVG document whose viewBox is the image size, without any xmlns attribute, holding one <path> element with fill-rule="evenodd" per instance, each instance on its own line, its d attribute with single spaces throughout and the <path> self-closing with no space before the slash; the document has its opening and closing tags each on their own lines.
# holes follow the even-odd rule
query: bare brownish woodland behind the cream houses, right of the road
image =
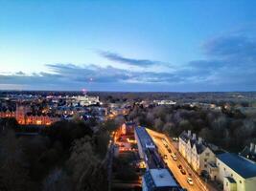
<svg viewBox="0 0 256 191">
<path fill-rule="evenodd" d="M 231 152 L 240 152 L 245 145 L 256 142 L 256 118 L 247 117 L 232 107 L 210 110 L 189 105 L 135 106 L 128 119 L 171 137 L 192 130 L 206 141 Z"/>
</svg>

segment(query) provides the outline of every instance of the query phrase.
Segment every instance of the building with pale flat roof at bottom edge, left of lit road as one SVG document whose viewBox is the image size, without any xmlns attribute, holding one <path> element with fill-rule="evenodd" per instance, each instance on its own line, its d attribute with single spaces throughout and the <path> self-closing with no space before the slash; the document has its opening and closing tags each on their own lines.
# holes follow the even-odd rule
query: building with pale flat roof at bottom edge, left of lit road
<svg viewBox="0 0 256 191">
<path fill-rule="evenodd" d="M 176 181 L 167 169 L 150 169 L 142 178 L 143 191 L 177 191 Z"/>
</svg>

